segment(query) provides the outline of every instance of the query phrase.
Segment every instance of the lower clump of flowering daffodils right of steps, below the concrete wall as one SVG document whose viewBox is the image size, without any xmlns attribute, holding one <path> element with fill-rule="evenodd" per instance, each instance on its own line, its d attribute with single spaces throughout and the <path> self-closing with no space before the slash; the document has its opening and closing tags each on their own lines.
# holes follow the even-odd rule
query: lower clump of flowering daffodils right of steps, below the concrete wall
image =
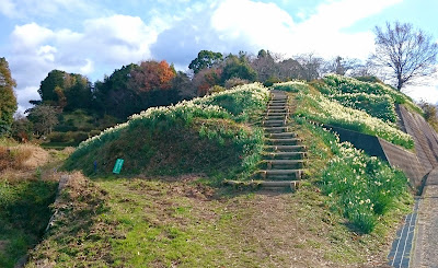
<svg viewBox="0 0 438 268">
<path fill-rule="evenodd" d="M 331 159 L 315 174 L 322 191 L 331 198 L 330 206 L 355 229 L 371 233 L 381 221 L 381 215 L 389 213 L 407 195 L 406 176 L 348 142 L 339 143 L 337 136 L 321 126 L 309 124 L 301 117 L 296 119 L 313 137 L 323 141 L 323 145 L 310 148 L 309 152 L 319 153 L 320 159 Z M 330 153 L 322 150 L 323 147 L 328 148 Z"/>
</svg>

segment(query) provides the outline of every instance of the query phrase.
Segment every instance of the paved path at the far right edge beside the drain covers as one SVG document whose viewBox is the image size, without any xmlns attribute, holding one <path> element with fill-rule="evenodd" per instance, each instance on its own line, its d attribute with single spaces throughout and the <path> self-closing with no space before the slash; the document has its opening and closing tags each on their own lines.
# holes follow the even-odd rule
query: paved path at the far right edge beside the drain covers
<svg viewBox="0 0 438 268">
<path fill-rule="evenodd" d="M 438 168 L 427 177 L 419 200 L 416 240 L 410 267 L 438 268 Z"/>
</svg>

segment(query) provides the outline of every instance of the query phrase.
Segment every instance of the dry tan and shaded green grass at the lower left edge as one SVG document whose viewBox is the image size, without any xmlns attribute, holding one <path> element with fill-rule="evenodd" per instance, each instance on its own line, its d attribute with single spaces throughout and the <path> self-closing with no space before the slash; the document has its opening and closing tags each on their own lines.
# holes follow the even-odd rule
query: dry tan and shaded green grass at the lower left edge
<svg viewBox="0 0 438 268">
<path fill-rule="evenodd" d="M 67 155 L 0 140 L 0 267 L 14 267 L 39 242 L 58 185 L 54 168 Z"/>
</svg>

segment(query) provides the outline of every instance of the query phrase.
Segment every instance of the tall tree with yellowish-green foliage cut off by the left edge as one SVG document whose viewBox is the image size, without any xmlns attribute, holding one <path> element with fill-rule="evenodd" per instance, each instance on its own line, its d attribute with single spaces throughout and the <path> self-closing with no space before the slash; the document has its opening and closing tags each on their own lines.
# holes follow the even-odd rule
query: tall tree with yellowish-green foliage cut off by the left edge
<svg viewBox="0 0 438 268">
<path fill-rule="evenodd" d="M 11 131 L 13 114 L 16 110 L 16 97 L 13 88 L 16 86 L 5 58 L 0 58 L 0 137 Z"/>
</svg>

